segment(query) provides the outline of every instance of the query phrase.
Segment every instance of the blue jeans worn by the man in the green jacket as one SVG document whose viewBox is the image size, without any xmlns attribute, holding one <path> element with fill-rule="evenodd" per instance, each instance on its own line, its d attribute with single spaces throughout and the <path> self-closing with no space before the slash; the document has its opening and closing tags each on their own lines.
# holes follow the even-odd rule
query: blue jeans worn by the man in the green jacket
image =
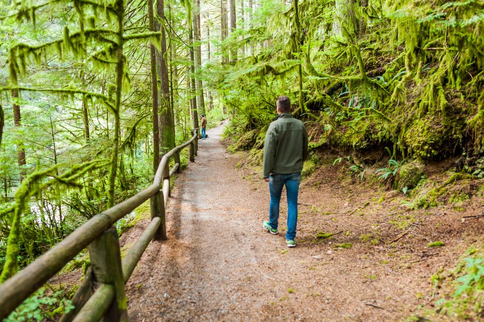
<svg viewBox="0 0 484 322">
<path fill-rule="evenodd" d="M 279 203 L 281 201 L 282 188 L 286 185 L 287 191 L 287 232 L 286 239 L 294 240 L 297 225 L 297 194 L 299 193 L 299 183 L 301 173 L 287 175 L 272 174 L 269 176 L 269 192 L 271 203 L 269 206 L 269 224 L 273 229 L 277 229 L 279 219 Z"/>
</svg>

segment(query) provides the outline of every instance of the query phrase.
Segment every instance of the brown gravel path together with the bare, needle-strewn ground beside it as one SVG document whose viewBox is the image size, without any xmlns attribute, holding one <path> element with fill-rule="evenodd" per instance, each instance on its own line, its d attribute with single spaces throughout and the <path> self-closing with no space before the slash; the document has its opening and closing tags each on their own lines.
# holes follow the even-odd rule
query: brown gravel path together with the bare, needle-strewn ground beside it
<svg viewBox="0 0 484 322">
<path fill-rule="evenodd" d="M 280 233 L 269 234 L 268 185 L 258 169 L 237 167 L 246 154 L 227 153 L 222 129 L 208 131 L 176 178 L 168 239 L 148 246 L 127 285 L 131 321 L 406 320 L 438 298 L 431 276 L 482 243 L 484 218 L 462 219 L 480 214 L 482 197 L 409 210 L 402 194 L 381 198 L 378 183 L 355 180 L 328 157 L 301 183 L 297 246 L 288 249 L 285 197 Z M 149 214 L 122 244 L 148 223 Z M 437 240 L 445 246 L 428 248 Z"/>
</svg>

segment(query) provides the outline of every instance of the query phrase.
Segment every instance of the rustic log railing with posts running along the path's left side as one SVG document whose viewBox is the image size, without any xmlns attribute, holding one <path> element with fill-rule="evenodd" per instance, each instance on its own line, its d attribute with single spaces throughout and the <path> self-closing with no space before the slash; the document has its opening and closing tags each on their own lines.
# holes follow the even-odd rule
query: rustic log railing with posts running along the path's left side
<svg viewBox="0 0 484 322">
<path fill-rule="evenodd" d="M 153 184 L 89 219 L 47 253 L 0 285 L 0 321 L 86 247 L 91 268 L 72 298 L 74 309 L 61 317 L 68 321 L 126 321 L 128 319 L 125 284 L 152 239 L 166 239 L 165 208 L 170 196 L 170 177 L 180 172 L 180 151 L 189 146 L 195 162 L 198 129 L 192 138 L 163 155 Z M 169 161 L 174 166 L 169 169 Z M 119 239 L 113 224 L 150 200 L 151 223 L 121 260 Z"/>
</svg>

